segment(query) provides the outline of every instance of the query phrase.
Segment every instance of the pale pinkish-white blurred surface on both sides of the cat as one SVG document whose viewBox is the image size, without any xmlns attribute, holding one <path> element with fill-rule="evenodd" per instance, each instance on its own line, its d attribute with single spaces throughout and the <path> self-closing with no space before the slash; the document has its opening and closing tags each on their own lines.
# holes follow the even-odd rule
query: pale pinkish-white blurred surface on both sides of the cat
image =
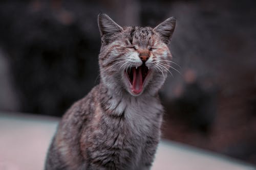
<svg viewBox="0 0 256 170">
<path fill-rule="evenodd" d="M 0 170 L 43 169 L 57 118 L 0 113 Z M 153 170 L 249 170 L 255 166 L 219 154 L 161 141 Z"/>
</svg>

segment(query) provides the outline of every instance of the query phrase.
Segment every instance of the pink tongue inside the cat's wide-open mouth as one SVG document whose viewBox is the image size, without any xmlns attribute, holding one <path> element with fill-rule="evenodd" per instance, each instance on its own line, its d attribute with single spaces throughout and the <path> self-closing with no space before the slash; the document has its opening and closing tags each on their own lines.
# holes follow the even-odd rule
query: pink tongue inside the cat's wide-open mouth
<svg viewBox="0 0 256 170">
<path fill-rule="evenodd" d="M 133 68 L 133 92 L 138 94 L 142 91 L 142 73 L 141 67 Z"/>
</svg>

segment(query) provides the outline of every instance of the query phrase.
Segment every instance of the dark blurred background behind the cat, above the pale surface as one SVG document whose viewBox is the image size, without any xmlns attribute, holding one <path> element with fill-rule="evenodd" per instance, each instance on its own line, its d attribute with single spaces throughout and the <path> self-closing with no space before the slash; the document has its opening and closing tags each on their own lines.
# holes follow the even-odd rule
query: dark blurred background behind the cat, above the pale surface
<svg viewBox="0 0 256 170">
<path fill-rule="evenodd" d="M 99 81 L 99 12 L 177 17 L 163 138 L 256 164 L 256 1 L 1 1 L 0 110 L 61 116 Z"/>
</svg>

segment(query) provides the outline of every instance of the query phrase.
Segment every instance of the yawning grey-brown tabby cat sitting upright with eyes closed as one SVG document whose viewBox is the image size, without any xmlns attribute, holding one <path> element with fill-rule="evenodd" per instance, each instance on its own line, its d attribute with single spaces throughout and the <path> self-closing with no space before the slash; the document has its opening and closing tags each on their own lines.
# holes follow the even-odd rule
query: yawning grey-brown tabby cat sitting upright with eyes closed
<svg viewBox="0 0 256 170">
<path fill-rule="evenodd" d="M 160 140 L 158 91 L 172 55 L 170 17 L 154 29 L 98 15 L 100 83 L 63 115 L 45 169 L 150 169 Z"/>
</svg>

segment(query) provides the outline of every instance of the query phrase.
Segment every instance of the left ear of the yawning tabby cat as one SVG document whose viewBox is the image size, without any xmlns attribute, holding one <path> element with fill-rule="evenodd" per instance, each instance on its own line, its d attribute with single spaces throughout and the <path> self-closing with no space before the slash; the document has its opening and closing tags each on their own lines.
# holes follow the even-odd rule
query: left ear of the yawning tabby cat
<svg viewBox="0 0 256 170">
<path fill-rule="evenodd" d="M 113 35 L 123 31 L 122 27 L 104 13 L 100 13 L 98 15 L 98 27 L 101 41 L 103 43 L 108 43 Z"/>
</svg>

